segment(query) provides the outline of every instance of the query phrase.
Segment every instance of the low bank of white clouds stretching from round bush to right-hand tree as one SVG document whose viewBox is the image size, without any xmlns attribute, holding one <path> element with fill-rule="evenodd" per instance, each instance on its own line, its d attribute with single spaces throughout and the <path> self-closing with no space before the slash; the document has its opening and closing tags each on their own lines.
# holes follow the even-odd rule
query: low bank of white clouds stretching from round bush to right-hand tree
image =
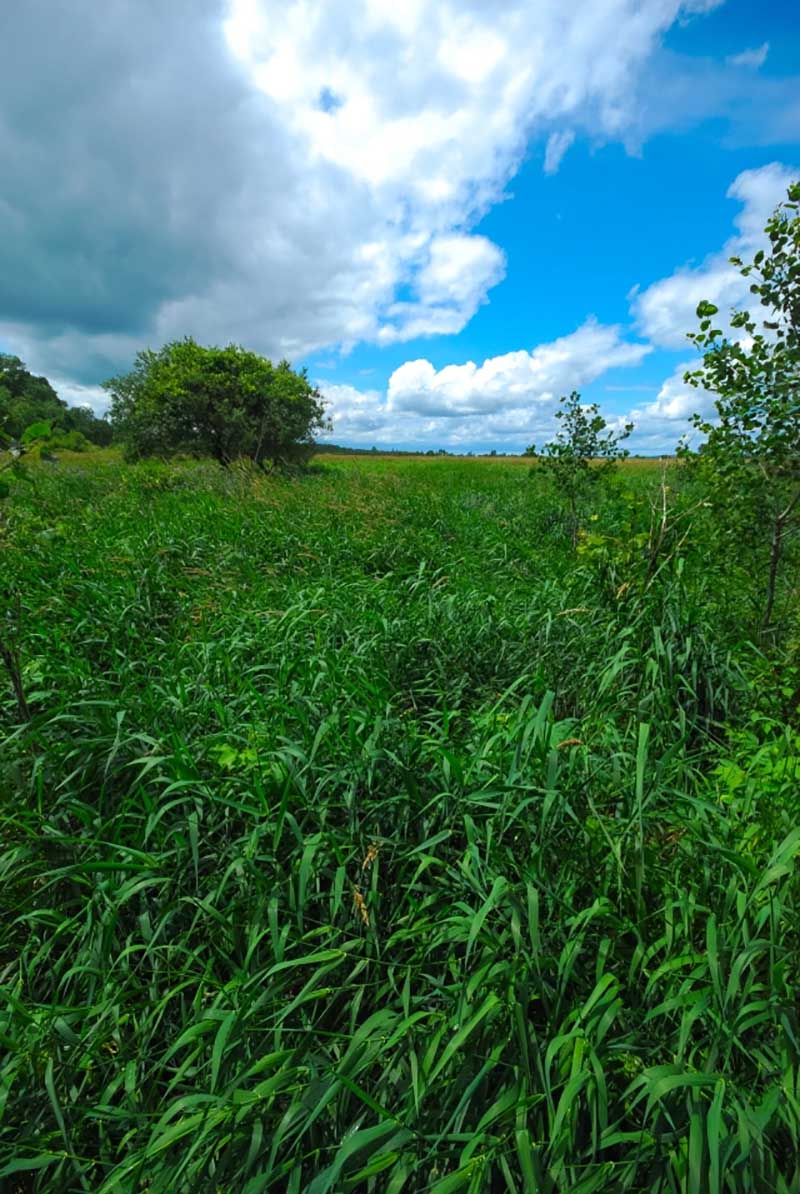
<svg viewBox="0 0 800 1194">
<path fill-rule="evenodd" d="M 464 443 L 494 444 L 511 451 L 522 450 L 531 439 L 541 443 L 555 429 L 561 394 L 589 386 L 611 369 L 639 365 L 656 347 L 688 350 L 687 332 L 696 326 L 695 310 L 702 298 L 720 307 L 719 321 L 725 326 L 726 310 L 749 297 L 749 283 L 728 258 L 746 259 L 763 246 L 764 223 L 799 174 L 779 162 L 740 173 L 727 191 L 740 204 L 736 234 L 700 266 L 676 270 L 638 291 L 632 300 L 632 328 L 589 319 L 570 336 L 492 357 L 481 365 L 469 361 L 437 370 L 424 358 L 408 361 L 392 374 L 386 395 L 322 386 L 332 401 L 332 438 L 346 437 L 356 444 L 431 441 L 454 449 Z M 654 401 L 620 414 L 621 423 L 635 424 L 635 450 L 672 451 L 694 412 L 713 413 L 713 395 L 683 381 L 695 364 L 690 357 L 682 359 L 658 387 Z"/>
</svg>

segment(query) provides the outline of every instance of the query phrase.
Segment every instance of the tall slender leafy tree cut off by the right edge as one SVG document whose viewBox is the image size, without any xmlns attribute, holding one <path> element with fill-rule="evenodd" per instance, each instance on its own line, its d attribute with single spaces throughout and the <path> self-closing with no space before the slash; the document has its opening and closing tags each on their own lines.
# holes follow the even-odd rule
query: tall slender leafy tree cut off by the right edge
<svg viewBox="0 0 800 1194">
<path fill-rule="evenodd" d="M 697 307 L 700 331 L 689 339 L 703 353 L 685 374 L 693 386 L 716 394 L 714 421 L 694 416 L 706 436 L 694 467 L 707 484 L 720 516 L 740 544 L 755 535 L 767 547 L 762 629 L 773 622 L 786 548 L 800 528 L 800 184 L 788 190 L 768 221 L 769 248 L 750 264 L 731 258 L 751 279 L 765 308 L 757 319 L 734 312 L 738 338 L 712 326 L 718 308 Z M 684 449 L 685 454 L 685 449 Z"/>
</svg>

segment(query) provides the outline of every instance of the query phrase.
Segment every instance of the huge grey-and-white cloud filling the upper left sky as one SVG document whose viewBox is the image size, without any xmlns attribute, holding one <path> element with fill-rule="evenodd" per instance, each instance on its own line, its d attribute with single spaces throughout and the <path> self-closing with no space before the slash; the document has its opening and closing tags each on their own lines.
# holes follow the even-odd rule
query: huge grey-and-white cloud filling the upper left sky
<svg viewBox="0 0 800 1194">
<path fill-rule="evenodd" d="M 297 358 L 459 332 L 530 139 L 623 136 L 661 35 L 708 7 L 6 5 L 0 341 L 93 384 L 183 334 Z"/>
</svg>

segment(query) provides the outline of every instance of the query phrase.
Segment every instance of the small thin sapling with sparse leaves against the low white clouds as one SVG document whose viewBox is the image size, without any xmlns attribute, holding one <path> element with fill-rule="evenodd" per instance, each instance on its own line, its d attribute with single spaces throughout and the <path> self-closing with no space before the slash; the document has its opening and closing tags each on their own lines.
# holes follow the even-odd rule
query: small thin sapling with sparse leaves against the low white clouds
<svg viewBox="0 0 800 1194">
<path fill-rule="evenodd" d="M 555 418 L 561 430 L 555 439 L 544 444 L 541 453 L 535 444 L 525 448 L 527 456 L 536 456 L 541 468 L 548 474 L 567 503 L 570 533 L 573 544 L 578 541 L 580 510 L 584 500 L 598 480 L 616 467 L 616 462 L 628 455 L 620 444 L 633 431 L 627 423 L 621 431 L 608 431 L 608 424 L 596 402 L 584 406 L 580 394 L 573 390 L 560 399 L 561 410 Z"/>
</svg>

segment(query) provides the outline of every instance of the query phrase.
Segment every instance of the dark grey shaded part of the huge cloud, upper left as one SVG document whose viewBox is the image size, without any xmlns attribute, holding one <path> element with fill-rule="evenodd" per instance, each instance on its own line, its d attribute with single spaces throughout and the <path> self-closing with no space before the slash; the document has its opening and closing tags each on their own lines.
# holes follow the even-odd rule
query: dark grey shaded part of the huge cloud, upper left
<svg viewBox="0 0 800 1194">
<path fill-rule="evenodd" d="M 254 113 L 221 16 L 215 0 L 4 7 L 5 318 L 141 332 L 223 267 L 219 178 L 241 186 Z"/>
</svg>

